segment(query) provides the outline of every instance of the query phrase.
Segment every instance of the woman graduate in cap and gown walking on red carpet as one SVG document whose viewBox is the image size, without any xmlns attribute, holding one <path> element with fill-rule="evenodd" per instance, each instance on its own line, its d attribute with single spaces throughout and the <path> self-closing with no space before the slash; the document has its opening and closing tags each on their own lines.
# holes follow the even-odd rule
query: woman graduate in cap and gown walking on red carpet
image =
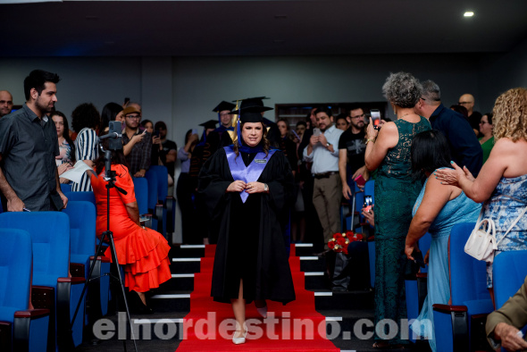
<svg viewBox="0 0 527 352">
<path fill-rule="evenodd" d="M 282 230 L 289 221 L 294 179 L 280 150 L 270 149 L 262 112 L 253 106 L 239 113 L 234 146 L 220 148 L 204 164 L 198 182 L 218 231 L 211 296 L 230 303 L 237 321 L 232 341 L 247 335 L 245 305 L 253 300 L 267 315 L 265 299 L 295 300 L 289 254 Z"/>
</svg>

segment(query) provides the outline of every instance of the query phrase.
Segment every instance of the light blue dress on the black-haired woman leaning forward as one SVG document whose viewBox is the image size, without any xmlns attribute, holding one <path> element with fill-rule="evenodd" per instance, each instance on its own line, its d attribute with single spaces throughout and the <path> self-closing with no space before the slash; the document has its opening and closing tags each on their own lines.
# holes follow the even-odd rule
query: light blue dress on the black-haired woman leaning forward
<svg viewBox="0 0 527 352">
<path fill-rule="evenodd" d="M 427 183 L 428 179 L 424 182 L 421 193 L 415 201 L 413 216 L 421 205 Z M 448 304 L 448 299 L 450 299 L 450 281 L 448 278 L 448 238 L 450 237 L 450 230 L 457 223 L 475 222 L 480 211 L 481 204 L 473 202 L 462 191 L 459 196 L 449 200 L 443 206 L 428 230 L 431 233 L 427 280 L 428 296 L 422 304 L 421 314 L 419 314 L 411 327 L 417 335 L 428 339 L 431 350 L 434 352 L 436 351 L 436 340 L 433 329 L 432 305 L 446 305 Z"/>
</svg>

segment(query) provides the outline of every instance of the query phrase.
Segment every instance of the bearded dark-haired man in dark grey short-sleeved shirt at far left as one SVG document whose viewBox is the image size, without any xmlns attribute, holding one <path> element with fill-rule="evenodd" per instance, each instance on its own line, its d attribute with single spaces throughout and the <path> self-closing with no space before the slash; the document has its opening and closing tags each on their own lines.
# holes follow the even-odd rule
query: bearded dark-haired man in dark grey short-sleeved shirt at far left
<svg viewBox="0 0 527 352">
<path fill-rule="evenodd" d="M 35 70 L 24 80 L 26 104 L 0 119 L 0 190 L 4 210 L 61 210 L 66 207 L 55 156 L 59 144 L 47 116 L 57 101 L 55 73 Z"/>
</svg>

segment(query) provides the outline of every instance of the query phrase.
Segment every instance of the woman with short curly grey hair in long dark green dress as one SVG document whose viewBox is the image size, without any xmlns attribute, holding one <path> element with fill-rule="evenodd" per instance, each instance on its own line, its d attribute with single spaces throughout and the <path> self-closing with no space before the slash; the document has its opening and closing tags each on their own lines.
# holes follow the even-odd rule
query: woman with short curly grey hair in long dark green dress
<svg viewBox="0 0 527 352">
<path fill-rule="evenodd" d="M 385 324 L 384 333 L 375 331 L 373 348 L 406 344 L 400 339 L 401 319 L 406 319 L 404 272 L 407 260 L 402 254 L 412 206 L 422 187 L 412 180 L 410 147 L 414 136 L 431 125 L 414 113 L 421 99 L 422 87 L 409 73 L 389 75 L 382 87 L 397 121 L 382 124 L 380 130 L 368 125 L 364 161 L 370 172 L 377 170 L 375 180 L 375 323 L 389 319 L 397 323 L 397 335 Z M 391 333 L 390 333 L 391 332 Z"/>
</svg>

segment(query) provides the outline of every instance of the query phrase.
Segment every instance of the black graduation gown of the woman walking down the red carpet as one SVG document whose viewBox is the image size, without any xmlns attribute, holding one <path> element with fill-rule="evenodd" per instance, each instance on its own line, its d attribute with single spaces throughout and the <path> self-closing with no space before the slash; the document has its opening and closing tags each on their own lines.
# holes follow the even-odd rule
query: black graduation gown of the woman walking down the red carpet
<svg viewBox="0 0 527 352">
<path fill-rule="evenodd" d="M 255 154 L 241 153 L 247 165 Z M 198 181 L 218 243 L 213 265 L 211 296 L 230 303 L 238 298 L 239 281 L 247 302 L 271 299 L 284 304 L 295 300 L 289 255 L 282 235 L 289 221 L 294 180 L 288 160 L 274 152 L 259 182 L 269 185 L 269 194 L 252 194 L 242 203 L 237 192 L 225 192 L 233 182 L 223 148 L 204 164 Z"/>
</svg>

